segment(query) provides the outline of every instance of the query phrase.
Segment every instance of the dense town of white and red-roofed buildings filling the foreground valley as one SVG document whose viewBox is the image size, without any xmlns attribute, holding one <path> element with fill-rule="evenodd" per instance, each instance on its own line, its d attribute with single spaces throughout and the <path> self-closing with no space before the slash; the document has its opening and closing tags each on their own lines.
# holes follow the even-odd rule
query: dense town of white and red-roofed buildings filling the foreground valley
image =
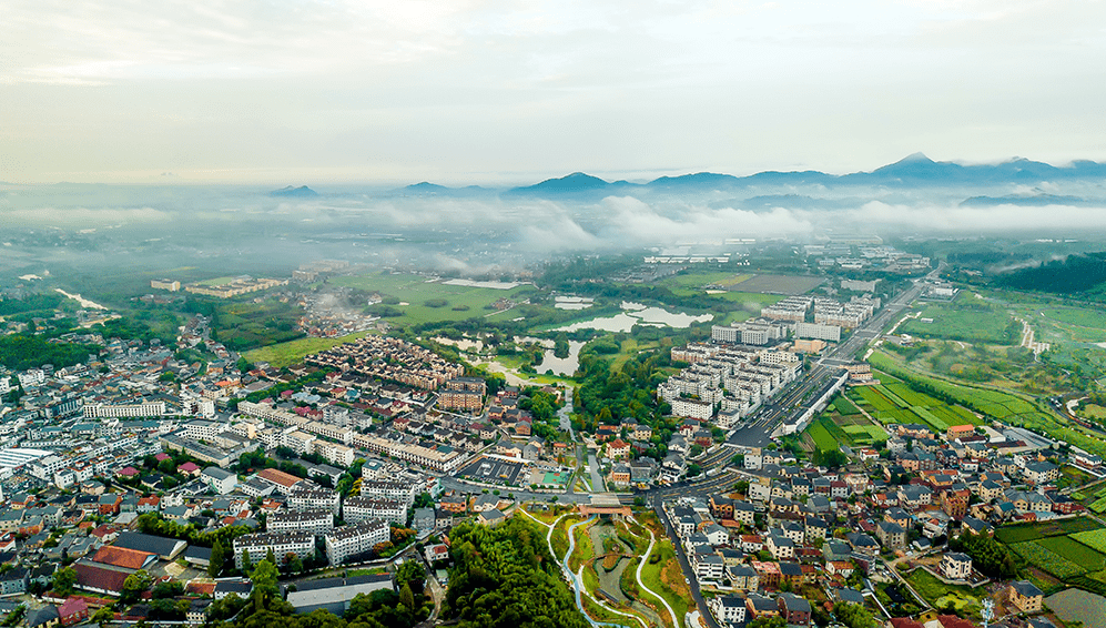
<svg viewBox="0 0 1106 628">
<path fill-rule="evenodd" d="M 71 332 L 0 373 L 3 621 L 1065 628 L 1046 598 L 1106 592 L 1102 439 L 919 369 L 963 291 L 905 267 L 670 332 L 383 326 L 280 365 L 203 313 Z"/>
</svg>

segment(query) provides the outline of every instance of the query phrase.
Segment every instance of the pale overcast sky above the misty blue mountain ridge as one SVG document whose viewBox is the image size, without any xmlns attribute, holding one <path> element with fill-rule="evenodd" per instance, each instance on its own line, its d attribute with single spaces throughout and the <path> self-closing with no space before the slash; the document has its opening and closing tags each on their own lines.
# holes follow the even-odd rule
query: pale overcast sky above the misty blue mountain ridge
<svg viewBox="0 0 1106 628">
<path fill-rule="evenodd" d="M 1106 2 L 0 0 L 0 181 L 1106 160 Z"/>
</svg>

